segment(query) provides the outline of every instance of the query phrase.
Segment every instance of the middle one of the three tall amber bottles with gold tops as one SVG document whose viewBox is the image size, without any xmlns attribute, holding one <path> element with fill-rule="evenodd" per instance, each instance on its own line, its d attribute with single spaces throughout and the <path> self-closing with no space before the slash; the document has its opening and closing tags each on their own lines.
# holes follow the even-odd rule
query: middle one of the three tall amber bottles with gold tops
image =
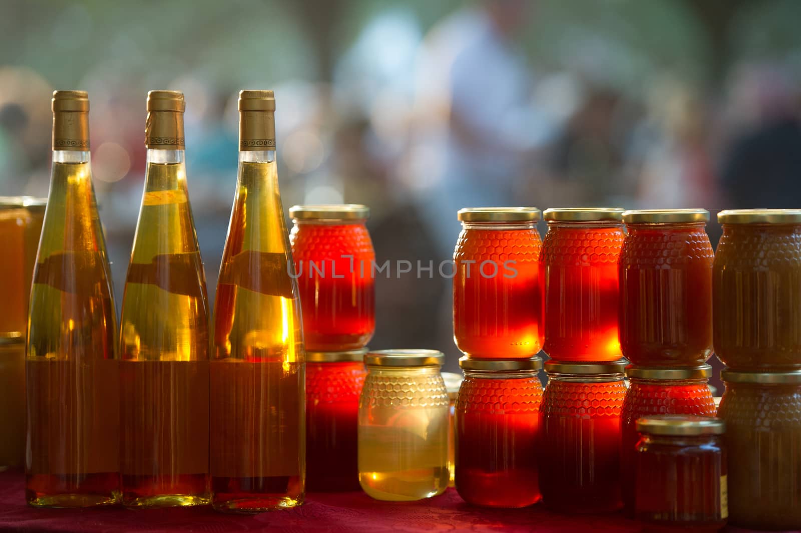
<svg viewBox="0 0 801 533">
<path fill-rule="evenodd" d="M 187 194 L 183 94 L 147 94 L 147 172 L 120 318 L 123 505 L 208 495 L 206 276 Z"/>
</svg>

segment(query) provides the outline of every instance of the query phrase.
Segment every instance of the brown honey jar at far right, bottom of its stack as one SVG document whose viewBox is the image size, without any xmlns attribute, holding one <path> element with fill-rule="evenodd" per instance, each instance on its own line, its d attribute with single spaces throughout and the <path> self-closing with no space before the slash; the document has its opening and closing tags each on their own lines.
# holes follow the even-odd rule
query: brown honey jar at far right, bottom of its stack
<svg viewBox="0 0 801 533">
<path fill-rule="evenodd" d="M 729 522 L 801 530 L 801 371 L 723 370 Z"/>
</svg>

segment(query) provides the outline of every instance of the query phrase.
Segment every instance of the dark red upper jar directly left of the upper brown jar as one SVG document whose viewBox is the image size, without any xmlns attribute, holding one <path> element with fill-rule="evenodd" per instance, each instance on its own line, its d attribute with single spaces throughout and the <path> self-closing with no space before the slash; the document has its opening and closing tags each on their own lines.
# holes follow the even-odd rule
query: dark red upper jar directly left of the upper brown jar
<svg viewBox="0 0 801 533">
<path fill-rule="evenodd" d="M 620 347 L 634 365 L 702 365 L 712 354 L 708 220 L 706 209 L 623 213 Z"/>
</svg>

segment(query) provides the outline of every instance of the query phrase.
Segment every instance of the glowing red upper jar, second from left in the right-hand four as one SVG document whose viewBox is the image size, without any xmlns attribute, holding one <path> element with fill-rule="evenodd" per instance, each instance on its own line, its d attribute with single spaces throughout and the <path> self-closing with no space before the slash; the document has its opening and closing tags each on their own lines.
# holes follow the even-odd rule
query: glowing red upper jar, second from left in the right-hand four
<svg viewBox="0 0 801 533">
<path fill-rule="evenodd" d="M 621 208 L 546 209 L 540 254 L 545 350 L 554 361 L 616 361 Z"/>
</svg>

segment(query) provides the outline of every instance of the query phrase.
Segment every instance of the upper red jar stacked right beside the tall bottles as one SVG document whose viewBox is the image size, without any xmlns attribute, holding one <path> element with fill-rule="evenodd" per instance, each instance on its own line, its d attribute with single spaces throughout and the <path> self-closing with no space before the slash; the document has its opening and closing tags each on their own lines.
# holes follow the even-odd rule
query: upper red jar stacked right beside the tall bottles
<svg viewBox="0 0 801 533">
<path fill-rule="evenodd" d="M 359 349 L 376 329 L 369 214 L 357 204 L 289 209 L 306 349 Z"/>
</svg>

